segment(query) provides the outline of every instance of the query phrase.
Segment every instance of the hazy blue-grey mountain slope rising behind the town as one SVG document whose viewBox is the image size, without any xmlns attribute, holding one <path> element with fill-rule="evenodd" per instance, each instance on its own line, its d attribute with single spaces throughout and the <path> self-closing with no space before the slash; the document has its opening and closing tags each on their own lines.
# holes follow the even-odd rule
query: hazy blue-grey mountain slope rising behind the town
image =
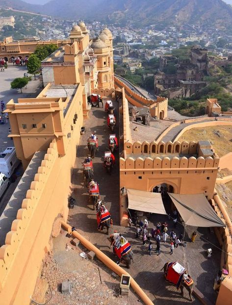
<svg viewBox="0 0 232 305">
<path fill-rule="evenodd" d="M 74 20 L 130 23 L 139 27 L 155 23 L 192 23 L 220 29 L 232 26 L 232 7 L 223 0 L 52 0 L 44 5 L 22 0 L 0 0 L 0 3 L 2 7 Z"/>
</svg>

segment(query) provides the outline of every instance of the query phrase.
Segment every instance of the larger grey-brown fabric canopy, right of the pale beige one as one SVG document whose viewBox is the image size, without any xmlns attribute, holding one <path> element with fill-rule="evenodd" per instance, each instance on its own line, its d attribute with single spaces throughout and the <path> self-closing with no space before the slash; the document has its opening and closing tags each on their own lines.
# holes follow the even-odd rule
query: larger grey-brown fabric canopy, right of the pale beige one
<svg viewBox="0 0 232 305">
<path fill-rule="evenodd" d="M 225 227 L 204 194 L 180 195 L 168 193 L 185 225 L 196 227 Z"/>
</svg>

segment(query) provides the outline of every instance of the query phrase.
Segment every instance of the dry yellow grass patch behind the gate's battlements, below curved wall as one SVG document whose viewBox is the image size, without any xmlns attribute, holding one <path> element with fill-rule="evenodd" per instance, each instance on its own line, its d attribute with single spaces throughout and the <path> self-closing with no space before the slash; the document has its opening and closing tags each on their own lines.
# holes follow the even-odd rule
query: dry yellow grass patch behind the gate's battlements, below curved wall
<svg viewBox="0 0 232 305">
<path fill-rule="evenodd" d="M 222 138 L 215 135 L 219 131 Z M 232 151 L 232 126 L 210 126 L 205 128 L 193 128 L 186 131 L 179 141 L 210 141 L 213 149 L 219 157 Z"/>
</svg>

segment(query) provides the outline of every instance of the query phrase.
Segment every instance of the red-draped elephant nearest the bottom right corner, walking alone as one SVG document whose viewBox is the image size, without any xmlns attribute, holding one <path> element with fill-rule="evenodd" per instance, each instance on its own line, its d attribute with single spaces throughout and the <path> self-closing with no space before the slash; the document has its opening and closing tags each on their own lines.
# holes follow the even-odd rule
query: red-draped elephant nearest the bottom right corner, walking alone
<svg viewBox="0 0 232 305">
<path fill-rule="evenodd" d="M 161 270 L 164 270 L 164 276 L 168 282 L 171 282 L 180 288 L 181 295 L 184 297 L 184 287 L 188 290 L 189 298 L 192 301 L 192 292 L 194 282 L 191 277 L 187 274 L 186 269 L 182 267 L 180 273 L 175 271 L 175 265 L 182 267 L 178 262 L 166 262 Z M 180 269 L 179 267 L 179 269 Z M 171 271 L 171 268 L 172 271 Z"/>
</svg>

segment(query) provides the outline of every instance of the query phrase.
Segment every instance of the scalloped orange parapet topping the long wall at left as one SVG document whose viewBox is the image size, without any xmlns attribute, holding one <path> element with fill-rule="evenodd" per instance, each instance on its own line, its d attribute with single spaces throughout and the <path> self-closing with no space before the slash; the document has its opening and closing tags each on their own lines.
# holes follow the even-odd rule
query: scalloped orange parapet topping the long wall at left
<svg viewBox="0 0 232 305">
<path fill-rule="evenodd" d="M 52 141 L 30 188 L 26 192 L 26 198 L 22 200 L 21 209 L 18 210 L 17 217 L 12 222 L 11 231 L 6 234 L 5 244 L 0 247 L 0 290 L 3 288 L 7 272 L 16 258 L 16 251 L 25 238 L 29 224 L 33 221 L 34 213 L 37 213 L 40 196 L 46 187 L 46 182 L 57 158 L 57 145 L 55 141 Z M 46 210 L 46 206 L 43 206 L 43 210 Z"/>
</svg>

